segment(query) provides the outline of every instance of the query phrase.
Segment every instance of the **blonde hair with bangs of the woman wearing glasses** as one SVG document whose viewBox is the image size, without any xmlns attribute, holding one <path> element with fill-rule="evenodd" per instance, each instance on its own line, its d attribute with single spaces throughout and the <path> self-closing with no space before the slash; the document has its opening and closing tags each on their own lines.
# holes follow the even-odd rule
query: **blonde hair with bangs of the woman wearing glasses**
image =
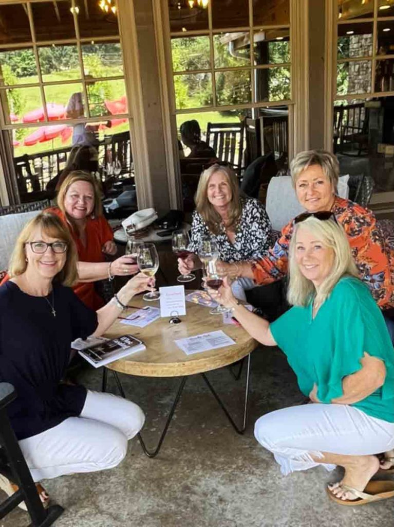
<svg viewBox="0 0 394 527">
<path fill-rule="evenodd" d="M 59 282 L 66 287 L 73 286 L 78 278 L 77 249 L 69 230 L 64 225 L 62 220 L 60 220 L 56 214 L 51 214 L 50 212 L 41 212 L 37 214 L 37 216 L 29 221 L 22 229 L 22 232 L 19 234 L 18 239 L 16 240 L 11 259 L 9 260 L 9 277 L 13 278 L 14 276 L 22 275 L 26 271 L 27 262 L 25 243 L 32 241 L 29 240 L 29 238 L 38 228 L 41 228 L 46 236 L 65 241 L 67 243 L 66 263 L 64 264 L 63 269 L 60 270 L 54 277 L 54 281 Z"/>
</svg>

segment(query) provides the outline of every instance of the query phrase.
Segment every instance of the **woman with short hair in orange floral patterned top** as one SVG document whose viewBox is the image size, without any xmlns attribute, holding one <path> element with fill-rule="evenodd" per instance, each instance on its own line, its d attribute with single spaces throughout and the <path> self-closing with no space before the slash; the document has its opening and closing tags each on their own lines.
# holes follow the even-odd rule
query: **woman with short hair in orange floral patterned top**
<svg viewBox="0 0 394 527">
<path fill-rule="evenodd" d="M 291 178 L 298 201 L 307 212 L 334 212 L 344 228 L 359 276 L 366 282 L 386 318 L 394 340 L 394 253 L 376 225 L 375 215 L 348 199 L 336 196 L 339 177 L 337 158 L 324 150 L 300 152 L 291 165 Z M 260 260 L 238 262 L 239 276 L 266 285 L 287 274 L 289 245 L 294 231 L 291 220 L 281 231 L 274 247 Z M 219 262 L 217 262 L 219 264 Z M 219 271 L 231 272 L 231 264 L 220 262 Z"/>
</svg>

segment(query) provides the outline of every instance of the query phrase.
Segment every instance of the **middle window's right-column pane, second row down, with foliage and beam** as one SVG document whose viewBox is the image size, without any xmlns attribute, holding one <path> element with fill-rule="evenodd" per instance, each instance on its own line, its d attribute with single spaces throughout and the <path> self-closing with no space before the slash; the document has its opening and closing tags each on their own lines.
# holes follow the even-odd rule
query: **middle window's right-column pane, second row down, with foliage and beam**
<svg viewBox="0 0 394 527">
<path fill-rule="evenodd" d="M 290 62 L 290 30 L 259 30 L 254 35 L 255 64 Z"/>
</svg>

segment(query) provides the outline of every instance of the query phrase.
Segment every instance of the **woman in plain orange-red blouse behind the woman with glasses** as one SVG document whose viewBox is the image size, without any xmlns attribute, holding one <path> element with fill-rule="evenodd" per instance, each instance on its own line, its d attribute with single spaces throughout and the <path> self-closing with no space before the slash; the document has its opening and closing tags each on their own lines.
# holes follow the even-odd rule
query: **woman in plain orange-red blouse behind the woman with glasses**
<svg viewBox="0 0 394 527">
<path fill-rule="evenodd" d="M 76 295 L 92 309 L 99 309 L 104 300 L 96 293 L 96 280 L 128 276 L 137 272 L 130 256 L 105 261 L 105 255 L 115 255 L 113 231 L 102 214 L 100 191 L 95 178 L 88 172 L 70 172 L 57 197 L 58 207 L 48 209 L 59 216 L 70 230 L 78 250 L 78 284 Z"/>
</svg>

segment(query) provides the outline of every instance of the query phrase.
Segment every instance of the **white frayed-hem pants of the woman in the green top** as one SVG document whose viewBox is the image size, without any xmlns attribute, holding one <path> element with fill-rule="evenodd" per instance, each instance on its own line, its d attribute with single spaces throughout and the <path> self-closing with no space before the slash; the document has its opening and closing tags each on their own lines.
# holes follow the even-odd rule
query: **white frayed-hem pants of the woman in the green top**
<svg viewBox="0 0 394 527">
<path fill-rule="evenodd" d="M 394 448 L 394 423 L 376 419 L 353 406 L 305 404 L 282 408 L 256 421 L 257 441 L 274 454 L 282 474 L 335 465 L 312 459 L 322 452 L 371 455 Z"/>
</svg>

